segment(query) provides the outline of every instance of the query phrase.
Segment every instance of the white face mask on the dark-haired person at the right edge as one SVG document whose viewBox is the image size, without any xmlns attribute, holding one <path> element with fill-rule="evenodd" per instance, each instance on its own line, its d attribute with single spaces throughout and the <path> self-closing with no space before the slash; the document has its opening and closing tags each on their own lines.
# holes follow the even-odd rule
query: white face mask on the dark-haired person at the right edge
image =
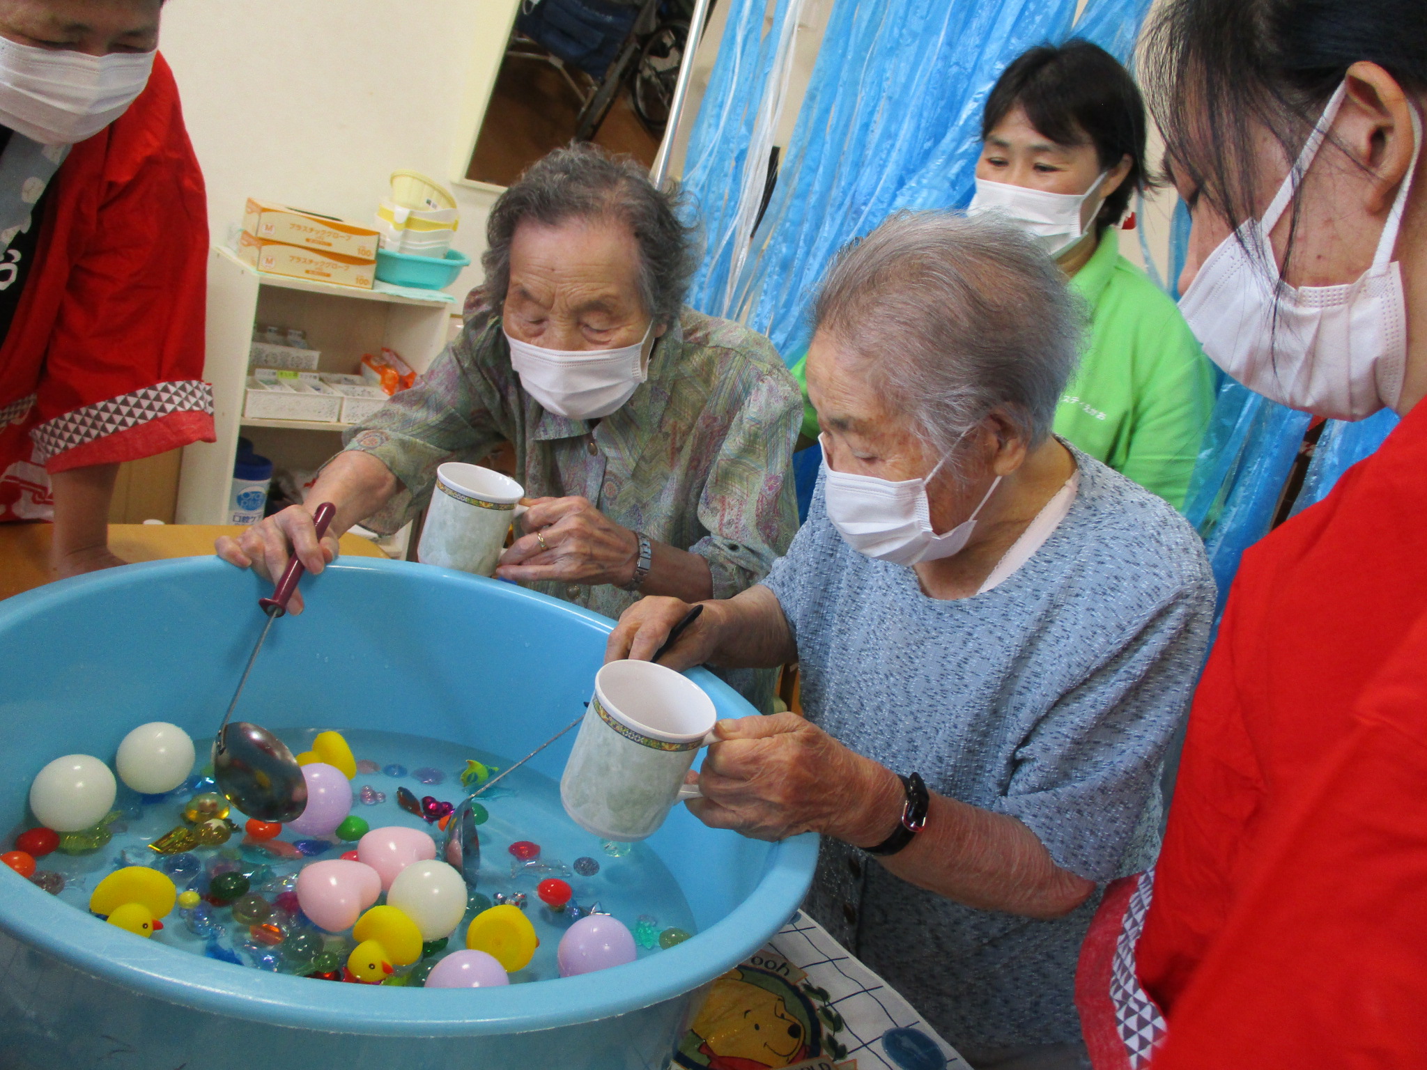
<svg viewBox="0 0 1427 1070">
<path fill-rule="evenodd" d="M 1333 124 L 1340 86 L 1303 146 L 1261 220 L 1247 220 L 1224 238 L 1179 302 L 1190 330 L 1214 364 L 1249 389 L 1290 408 L 1331 419 L 1361 419 L 1403 392 L 1407 364 L 1407 302 L 1391 260 L 1421 153 L 1421 120 L 1413 116 L 1413 165 L 1397 190 L 1377 243 L 1373 267 L 1356 282 L 1279 287 L 1269 235 Z M 1249 248 L 1263 251 L 1256 263 Z M 1277 321 L 1274 314 L 1277 312 Z"/>
</svg>

